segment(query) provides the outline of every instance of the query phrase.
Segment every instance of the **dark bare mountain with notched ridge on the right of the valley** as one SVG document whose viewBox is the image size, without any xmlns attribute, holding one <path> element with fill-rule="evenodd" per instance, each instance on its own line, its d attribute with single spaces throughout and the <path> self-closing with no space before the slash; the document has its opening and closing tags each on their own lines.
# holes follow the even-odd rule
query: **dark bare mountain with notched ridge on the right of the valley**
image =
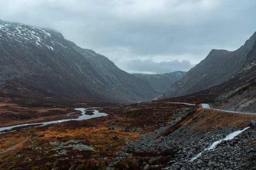
<svg viewBox="0 0 256 170">
<path fill-rule="evenodd" d="M 193 94 L 223 83 L 226 86 L 224 89 L 227 89 L 227 86 L 234 86 L 228 85 L 229 82 L 244 83 L 240 76 L 253 77 L 255 53 L 256 32 L 236 51 L 213 49 L 204 60 L 163 94 L 163 98 Z M 245 72 L 249 75 L 244 74 Z"/>
</svg>

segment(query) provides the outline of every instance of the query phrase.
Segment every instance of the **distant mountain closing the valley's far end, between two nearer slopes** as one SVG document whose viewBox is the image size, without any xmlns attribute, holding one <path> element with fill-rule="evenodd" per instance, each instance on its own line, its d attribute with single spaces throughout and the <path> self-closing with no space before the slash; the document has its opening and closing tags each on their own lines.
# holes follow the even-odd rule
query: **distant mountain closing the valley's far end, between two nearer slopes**
<svg viewBox="0 0 256 170">
<path fill-rule="evenodd" d="M 175 71 L 166 74 L 140 74 L 133 73 L 133 75 L 140 79 L 147 80 L 151 86 L 160 93 L 164 93 L 178 80 L 186 74 L 185 71 Z"/>
</svg>

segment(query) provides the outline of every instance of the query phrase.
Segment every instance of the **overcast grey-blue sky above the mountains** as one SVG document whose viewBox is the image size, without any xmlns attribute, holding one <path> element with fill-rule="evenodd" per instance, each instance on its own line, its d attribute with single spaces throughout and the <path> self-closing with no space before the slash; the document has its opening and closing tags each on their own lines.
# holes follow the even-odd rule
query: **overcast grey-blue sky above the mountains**
<svg viewBox="0 0 256 170">
<path fill-rule="evenodd" d="M 189 71 L 256 31 L 255 0 L 0 0 L 0 19 L 53 28 L 127 72 Z"/>
</svg>

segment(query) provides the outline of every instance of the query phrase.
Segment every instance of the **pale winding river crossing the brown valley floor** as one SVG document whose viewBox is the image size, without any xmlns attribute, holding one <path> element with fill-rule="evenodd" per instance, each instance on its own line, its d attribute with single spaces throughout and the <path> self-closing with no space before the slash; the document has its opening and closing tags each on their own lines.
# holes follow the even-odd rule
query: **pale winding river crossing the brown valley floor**
<svg viewBox="0 0 256 170">
<path fill-rule="evenodd" d="M 10 133 L 10 132 L 15 132 L 16 130 L 12 130 L 15 127 L 21 127 L 19 130 L 22 129 L 27 129 L 27 128 L 32 128 L 32 127 L 24 127 L 23 126 L 28 126 L 28 125 L 35 125 L 33 127 L 40 127 L 40 126 L 45 126 L 45 125 L 51 125 L 51 124 L 55 124 L 55 123 L 61 123 L 61 122 L 68 122 L 68 121 L 80 121 L 80 120 L 86 120 L 86 119 L 92 119 L 95 117 L 101 117 L 101 116 L 107 116 L 108 114 L 106 113 L 99 113 L 98 110 L 95 110 L 96 108 L 76 108 L 76 111 L 81 111 L 81 116 L 79 116 L 76 119 L 62 119 L 62 120 L 54 120 L 54 121 L 50 121 L 50 122 L 40 122 L 40 123 L 30 123 L 30 124 L 22 124 L 22 125 L 15 125 L 15 126 L 8 126 L 8 127 L 1 127 L 0 128 L 0 134 L 2 133 Z M 86 111 L 93 111 L 93 115 L 86 115 L 85 112 Z M 11 131 L 7 131 L 7 132 L 3 132 L 5 130 L 11 130 Z"/>
</svg>

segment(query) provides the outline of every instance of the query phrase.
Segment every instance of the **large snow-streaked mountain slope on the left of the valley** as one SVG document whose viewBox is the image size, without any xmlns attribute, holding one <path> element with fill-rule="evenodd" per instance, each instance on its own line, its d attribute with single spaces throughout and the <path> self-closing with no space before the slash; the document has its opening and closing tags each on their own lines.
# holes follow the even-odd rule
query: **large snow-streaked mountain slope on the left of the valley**
<svg viewBox="0 0 256 170">
<path fill-rule="evenodd" d="M 58 31 L 3 20 L 0 85 L 5 93 L 62 99 L 138 102 L 159 95 L 147 81 Z"/>
</svg>

